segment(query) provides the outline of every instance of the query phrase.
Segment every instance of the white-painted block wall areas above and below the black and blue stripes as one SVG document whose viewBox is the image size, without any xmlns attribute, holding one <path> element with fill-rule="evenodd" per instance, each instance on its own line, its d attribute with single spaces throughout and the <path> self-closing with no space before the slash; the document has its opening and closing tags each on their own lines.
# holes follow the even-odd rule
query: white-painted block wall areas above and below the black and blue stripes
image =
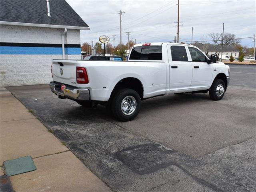
<svg viewBox="0 0 256 192">
<path fill-rule="evenodd" d="M 61 44 L 63 32 L 64 29 L 0 25 L 0 42 Z M 68 29 L 65 43 L 80 44 L 80 30 Z M 62 59 L 62 54 L 0 54 L 0 86 L 50 82 L 52 59 Z M 68 55 L 67 59 L 81 56 Z"/>
</svg>

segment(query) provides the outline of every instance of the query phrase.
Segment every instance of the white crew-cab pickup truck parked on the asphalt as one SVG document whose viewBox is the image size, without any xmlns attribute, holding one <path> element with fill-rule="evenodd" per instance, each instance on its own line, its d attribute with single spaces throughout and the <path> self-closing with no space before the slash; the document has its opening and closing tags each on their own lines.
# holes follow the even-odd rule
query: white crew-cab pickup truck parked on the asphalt
<svg viewBox="0 0 256 192">
<path fill-rule="evenodd" d="M 189 44 L 133 46 L 128 61 L 53 60 L 50 88 L 86 107 L 105 105 L 121 121 L 134 119 L 141 100 L 174 93 L 207 93 L 220 100 L 229 66 Z"/>
</svg>

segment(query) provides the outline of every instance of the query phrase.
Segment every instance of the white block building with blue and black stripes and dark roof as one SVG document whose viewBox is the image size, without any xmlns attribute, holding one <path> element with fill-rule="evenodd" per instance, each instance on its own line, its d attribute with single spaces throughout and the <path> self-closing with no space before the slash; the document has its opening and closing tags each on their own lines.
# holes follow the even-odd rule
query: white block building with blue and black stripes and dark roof
<svg viewBox="0 0 256 192">
<path fill-rule="evenodd" d="M 48 83 L 52 59 L 81 58 L 80 30 L 90 28 L 65 0 L 47 5 L 0 0 L 0 86 Z"/>
</svg>

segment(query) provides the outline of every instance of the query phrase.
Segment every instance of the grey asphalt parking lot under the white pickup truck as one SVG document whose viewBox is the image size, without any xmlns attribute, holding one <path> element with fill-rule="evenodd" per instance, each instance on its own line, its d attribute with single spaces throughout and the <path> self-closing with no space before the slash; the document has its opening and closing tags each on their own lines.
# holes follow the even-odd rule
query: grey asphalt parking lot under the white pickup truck
<svg viewBox="0 0 256 192">
<path fill-rule="evenodd" d="M 256 66 L 232 65 L 220 101 L 171 94 L 118 122 L 48 85 L 7 87 L 113 191 L 255 191 Z"/>
</svg>

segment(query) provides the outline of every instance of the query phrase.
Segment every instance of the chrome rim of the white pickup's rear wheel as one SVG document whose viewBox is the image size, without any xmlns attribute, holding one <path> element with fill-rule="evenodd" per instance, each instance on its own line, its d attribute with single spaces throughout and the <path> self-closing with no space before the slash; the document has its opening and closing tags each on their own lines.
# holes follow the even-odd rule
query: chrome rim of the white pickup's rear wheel
<svg viewBox="0 0 256 192">
<path fill-rule="evenodd" d="M 125 115 L 131 115 L 135 112 L 136 106 L 136 99 L 133 96 L 126 96 L 121 102 L 121 111 Z"/>
</svg>

